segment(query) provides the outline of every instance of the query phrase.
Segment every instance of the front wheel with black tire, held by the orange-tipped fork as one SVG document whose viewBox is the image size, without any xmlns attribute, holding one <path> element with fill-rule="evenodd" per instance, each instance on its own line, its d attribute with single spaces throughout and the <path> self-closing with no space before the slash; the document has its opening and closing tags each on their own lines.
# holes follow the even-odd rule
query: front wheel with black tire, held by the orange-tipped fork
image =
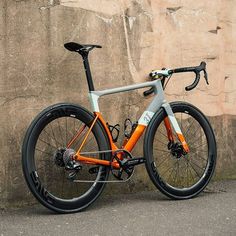
<svg viewBox="0 0 236 236">
<path fill-rule="evenodd" d="M 167 114 L 161 108 L 153 116 L 145 134 L 146 169 L 154 185 L 166 196 L 188 199 L 199 194 L 214 173 L 216 141 L 209 121 L 199 109 L 184 102 L 170 105 L 190 152 L 181 157 L 171 153 L 163 122 Z M 175 140 L 178 140 L 177 136 Z"/>
</svg>

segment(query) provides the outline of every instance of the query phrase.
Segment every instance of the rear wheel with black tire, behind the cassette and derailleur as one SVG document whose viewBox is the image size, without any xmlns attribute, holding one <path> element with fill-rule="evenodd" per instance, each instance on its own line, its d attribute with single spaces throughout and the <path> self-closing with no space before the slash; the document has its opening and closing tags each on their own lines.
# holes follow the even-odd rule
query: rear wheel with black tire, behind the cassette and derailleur
<svg viewBox="0 0 236 236">
<path fill-rule="evenodd" d="M 80 138 L 71 148 L 80 146 L 94 115 L 73 104 L 56 104 L 43 110 L 27 130 L 22 147 L 23 173 L 30 191 L 36 199 L 50 210 L 72 213 L 85 209 L 101 194 L 105 183 L 75 183 L 68 180 L 68 170 L 55 163 L 55 152 L 63 148 L 79 129 Z M 89 149 L 90 148 L 90 149 Z M 89 134 L 82 151 L 110 150 L 104 128 L 97 121 Z M 97 154 L 96 158 L 110 160 L 110 153 Z M 100 166 L 90 173 L 94 166 L 82 164 L 77 180 L 107 180 L 109 168 Z"/>
</svg>

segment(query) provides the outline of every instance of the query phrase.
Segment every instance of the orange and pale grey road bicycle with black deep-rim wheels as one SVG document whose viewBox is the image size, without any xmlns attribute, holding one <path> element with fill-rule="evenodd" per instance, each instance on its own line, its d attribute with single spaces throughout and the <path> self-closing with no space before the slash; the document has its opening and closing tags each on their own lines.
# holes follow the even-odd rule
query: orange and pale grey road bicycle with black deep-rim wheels
<svg viewBox="0 0 236 236">
<path fill-rule="evenodd" d="M 172 199 L 189 199 L 209 183 L 216 165 L 216 141 L 204 114 L 186 102 L 168 103 L 164 89 L 174 73 L 193 72 L 194 89 L 201 72 L 208 84 L 206 63 L 196 67 L 153 70 L 150 81 L 95 90 L 88 61 L 99 45 L 66 43 L 82 56 L 93 113 L 80 105 L 60 103 L 43 110 L 29 126 L 22 147 L 23 173 L 30 191 L 45 207 L 72 213 L 91 205 L 106 183 L 126 182 L 136 165 L 145 164 L 154 185 Z M 100 113 L 101 96 L 148 88 L 152 101 L 137 122 L 125 120 L 119 148 L 120 125 L 108 124 Z M 143 157 L 132 150 L 145 133 Z M 108 178 L 109 174 L 113 176 Z"/>
</svg>

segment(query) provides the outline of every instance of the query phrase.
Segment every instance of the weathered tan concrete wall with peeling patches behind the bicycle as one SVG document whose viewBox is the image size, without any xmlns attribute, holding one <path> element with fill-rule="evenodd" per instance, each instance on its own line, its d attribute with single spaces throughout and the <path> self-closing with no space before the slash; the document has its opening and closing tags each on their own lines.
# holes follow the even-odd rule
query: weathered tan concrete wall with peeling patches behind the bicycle
<svg viewBox="0 0 236 236">
<path fill-rule="evenodd" d="M 46 106 L 89 106 L 78 55 L 68 41 L 103 46 L 91 53 L 95 87 L 145 81 L 151 69 L 198 65 L 205 60 L 210 85 L 190 93 L 192 75 L 175 76 L 169 100 L 192 102 L 213 124 L 218 143 L 216 178 L 236 177 L 236 1 L 2 0 L 0 1 L 0 206 L 33 201 L 21 171 L 21 145 L 29 123 Z M 144 101 L 144 103 L 142 103 Z M 111 123 L 137 119 L 149 99 L 133 92 L 102 100 Z M 111 109 L 115 105 L 125 115 Z M 136 153 L 142 150 L 142 143 Z M 122 191 L 149 189 L 143 167 Z M 121 191 L 110 186 L 107 191 Z"/>
</svg>

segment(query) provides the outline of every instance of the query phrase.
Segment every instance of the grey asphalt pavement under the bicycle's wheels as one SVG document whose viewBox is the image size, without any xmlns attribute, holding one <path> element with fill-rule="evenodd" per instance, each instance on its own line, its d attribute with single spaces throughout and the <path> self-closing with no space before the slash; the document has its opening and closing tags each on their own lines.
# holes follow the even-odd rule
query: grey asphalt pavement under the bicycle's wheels
<svg viewBox="0 0 236 236">
<path fill-rule="evenodd" d="M 214 182 L 198 197 L 158 191 L 106 196 L 87 210 L 55 214 L 41 205 L 0 211 L 0 236 L 236 235 L 236 180 Z"/>
</svg>

